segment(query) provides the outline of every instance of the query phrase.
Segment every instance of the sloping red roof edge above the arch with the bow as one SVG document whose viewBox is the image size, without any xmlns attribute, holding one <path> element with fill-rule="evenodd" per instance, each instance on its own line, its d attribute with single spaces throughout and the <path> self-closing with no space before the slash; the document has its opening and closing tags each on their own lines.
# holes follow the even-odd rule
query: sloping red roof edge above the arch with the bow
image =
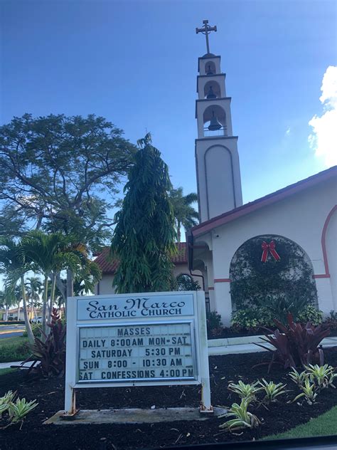
<svg viewBox="0 0 337 450">
<path fill-rule="evenodd" d="M 267 194 L 260 199 L 254 200 L 254 202 L 243 204 L 242 206 L 231 209 L 230 211 L 220 214 L 219 216 L 215 216 L 213 217 L 213 219 L 201 222 L 201 224 L 193 226 L 193 228 L 191 229 L 191 234 L 194 237 L 205 234 L 211 229 L 216 228 L 217 226 L 227 224 L 228 222 L 235 220 L 238 217 L 250 214 L 252 211 L 256 211 L 257 209 L 260 209 L 269 204 L 279 202 L 279 200 L 290 197 L 293 194 L 297 194 L 304 189 L 313 187 L 316 184 L 324 182 L 328 179 L 336 178 L 336 175 L 337 166 L 333 166 L 330 169 L 323 170 L 323 172 L 319 172 L 318 174 L 312 175 L 309 178 L 301 179 L 301 181 L 297 183 L 290 184 L 287 187 L 272 192 L 272 194 Z"/>
</svg>

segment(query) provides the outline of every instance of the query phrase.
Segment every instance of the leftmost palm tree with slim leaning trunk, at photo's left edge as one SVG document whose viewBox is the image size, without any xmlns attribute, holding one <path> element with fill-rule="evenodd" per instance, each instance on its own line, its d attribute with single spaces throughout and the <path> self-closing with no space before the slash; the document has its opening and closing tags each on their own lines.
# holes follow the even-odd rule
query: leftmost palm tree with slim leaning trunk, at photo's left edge
<svg viewBox="0 0 337 450">
<path fill-rule="evenodd" d="M 18 301 L 23 300 L 23 315 L 25 318 L 26 330 L 29 342 L 33 342 L 34 336 L 31 330 L 31 323 L 28 319 L 28 310 L 26 302 L 26 287 L 24 275 L 28 271 L 28 259 L 23 254 L 21 242 L 16 243 L 13 239 L 2 237 L 0 239 L 0 272 L 5 273 L 5 295 L 8 300 L 14 303 L 16 295 L 16 286 L 20 282 L 21 295 Z"/>
</svg>

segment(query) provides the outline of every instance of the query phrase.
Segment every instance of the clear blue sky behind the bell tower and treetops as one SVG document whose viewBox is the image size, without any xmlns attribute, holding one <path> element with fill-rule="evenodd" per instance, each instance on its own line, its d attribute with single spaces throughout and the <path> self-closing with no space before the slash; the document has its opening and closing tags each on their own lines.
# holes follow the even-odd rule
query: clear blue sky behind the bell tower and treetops
<svg viewBox="0 0 337 450">
<path fill-rule="evenodd" d="M 95 113 L 132 142 L 150 131 L 173 184 L 196 191 L 203 19 L 218 26 L 210 51 L 227 74 L 244 202 L 331 165 L 308 137 L 336 66 L 336 1 L 3 0 L 1 124 Z"/>
</svg>

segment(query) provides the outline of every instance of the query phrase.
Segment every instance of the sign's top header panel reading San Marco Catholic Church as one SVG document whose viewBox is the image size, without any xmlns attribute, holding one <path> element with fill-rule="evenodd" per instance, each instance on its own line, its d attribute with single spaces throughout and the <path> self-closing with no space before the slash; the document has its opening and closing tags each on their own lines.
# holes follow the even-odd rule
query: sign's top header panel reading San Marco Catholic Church
<svg viewBox="0 0 337 450">
<path fill-rule="evenodd" d="M 81 300 L 77 303 L 77 320 L 121 320 L 132 318 L 170 318 L 193 315 L 193 295 L 132 295 Z"/>
</svg>

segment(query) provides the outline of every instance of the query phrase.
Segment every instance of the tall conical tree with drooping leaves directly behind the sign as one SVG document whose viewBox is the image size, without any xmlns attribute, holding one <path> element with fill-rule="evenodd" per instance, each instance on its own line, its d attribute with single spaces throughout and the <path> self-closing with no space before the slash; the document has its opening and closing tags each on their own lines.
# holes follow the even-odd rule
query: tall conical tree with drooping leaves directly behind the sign
<svg viewBox="0 0 337 450">
<path fill-rule="evenodd" d="M 119 259 L 114 276 L 118 293 L 169 291 L 173 283 L 176 231 L 169 169 L 151 145 L 151 135 L 138 145 L 112 236 L 111 252 Z"/>
</svg>

